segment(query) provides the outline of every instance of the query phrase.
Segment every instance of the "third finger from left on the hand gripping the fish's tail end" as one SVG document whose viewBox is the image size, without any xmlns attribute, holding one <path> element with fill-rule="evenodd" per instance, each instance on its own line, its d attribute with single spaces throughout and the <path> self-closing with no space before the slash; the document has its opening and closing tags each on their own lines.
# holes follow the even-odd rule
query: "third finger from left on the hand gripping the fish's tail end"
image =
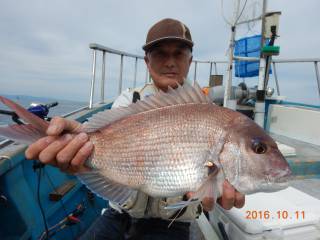
<svg viewBox="0 0 320 240">
<path fill-rule="evenodd" d="M 77 152 L 85 145 L 88 141 L 88 135 L 85 133 L 78 134 L 67 146 L 65 146 L 57 154 L 57 164 L 62 170 L 66 170 L 70 164 L 77 167 L 78 161 L 72 163 L 73 158 L 76 156 Z"/>
</svg>

